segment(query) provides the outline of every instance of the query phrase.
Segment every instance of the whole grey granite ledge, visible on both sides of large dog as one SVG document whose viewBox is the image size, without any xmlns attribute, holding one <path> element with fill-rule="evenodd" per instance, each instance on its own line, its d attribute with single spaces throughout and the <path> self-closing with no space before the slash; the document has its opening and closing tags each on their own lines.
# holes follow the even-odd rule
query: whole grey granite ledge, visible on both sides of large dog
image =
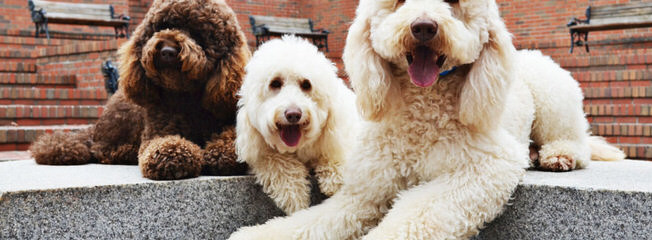
<svg viewBox="0 0 652 240">
<path fill-rule="evenodd" d="M 136 166 L 0 162 L 0 239 L 224 239 L 279 215 L 251 176 L 151 181 Z M 593 162 L 529 171 L 475 239 L 649 239 L 650 226 L 652 163 Z"/>
</svg>

